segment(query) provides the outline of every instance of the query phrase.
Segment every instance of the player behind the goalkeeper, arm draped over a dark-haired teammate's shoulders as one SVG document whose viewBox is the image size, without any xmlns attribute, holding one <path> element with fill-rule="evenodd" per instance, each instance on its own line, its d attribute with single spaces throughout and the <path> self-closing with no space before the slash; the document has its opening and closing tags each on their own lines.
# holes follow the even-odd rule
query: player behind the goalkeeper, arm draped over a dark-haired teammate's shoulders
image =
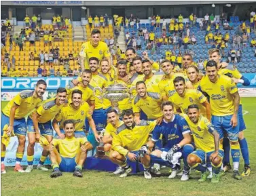
<svg viewBox="0 0 256 196">
<path fill-rule="evenodd" d="M 173 94 L 175 94 L 175 87 L 173 85 L 173 80 L 177 76 L 184 77 L 186 81 L 186 87 L 192 88 L 191 83 L 183 73 L 174 73 L 172 72 L 173 65 L 170 60 L 163 60 L 161 62 L 162 71 L 164 71 L 163 79 L 158 83 L 160 94 L 163 97 L 163 100 L 168 100 Z"/>
</svg>

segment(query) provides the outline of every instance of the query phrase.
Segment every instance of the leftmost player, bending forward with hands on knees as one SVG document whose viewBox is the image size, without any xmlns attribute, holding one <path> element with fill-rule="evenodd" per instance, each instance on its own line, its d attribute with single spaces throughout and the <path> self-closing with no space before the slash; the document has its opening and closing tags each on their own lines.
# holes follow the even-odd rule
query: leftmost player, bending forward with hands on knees
<svg viewBox="0 0 256 196">
<path fill-rule="evenodd" d="M 43 79 L 39 79 L 35 85 L 35 90 L 24 90 L 16 95 L 1 113 L 1 174 L 5 174 L 5 152 L 7 144 L 3 142 L 3 135 L 18 136 L 18 149 L 16 152 L 16 165 L 14 171 L 24 172 L 20 166 L 22 157 L 24 155 L 25 142 L 26 142 L 26 120 L 25 116 L 29 115 L 33 109 L 37 108 L 43 100 L 43 94 L 46 90 L 46 83 Z M 38 133 L 37 133 L 38 134 Z M 34 150 L 33 140 L 35 141 L 35 134 L 28 134 L 29 146 L 28 152 Z M 37 137 L 38 138 L 38 137 Z M 29 157 L 33 163 L 33 156 Z"/>
</svg>

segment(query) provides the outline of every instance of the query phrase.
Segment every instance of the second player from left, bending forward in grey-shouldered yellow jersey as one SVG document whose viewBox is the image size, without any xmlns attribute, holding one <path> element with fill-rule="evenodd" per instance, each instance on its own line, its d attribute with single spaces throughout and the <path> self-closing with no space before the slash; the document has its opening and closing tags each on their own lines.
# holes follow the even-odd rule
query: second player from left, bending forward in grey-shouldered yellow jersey
<svg viewBox="0 0 256 196">
<path fill-rule="evenodd" d="M 50 98 L 45 100 L 44 104 L 31 114 L 27 119 L 28 132 L 37 133 L 38 136 L 45 137 L 48 142 L 52 141 L 53 129 L 52 119 L 59 113 L 66 102 L 67 90 L 64 87 L 59 87 L 57 90 L 56 98 Z M 36 138 L 39 140 L 39 138 Z M 35 141 L 34 141 L 35 142 Z M 28 151 L 28 157 L 33 157 L 34 152 Z M 43 151 L 39 164 L 37 165 L 38 170 L 48 171 L 47 168 L 43 167 L 43 163 L 48 156 L 47 151 Z M 31 172 L 33 170 L 33 159 L 28 159 L 28 167 L 25 172 Z"/>
</svg>

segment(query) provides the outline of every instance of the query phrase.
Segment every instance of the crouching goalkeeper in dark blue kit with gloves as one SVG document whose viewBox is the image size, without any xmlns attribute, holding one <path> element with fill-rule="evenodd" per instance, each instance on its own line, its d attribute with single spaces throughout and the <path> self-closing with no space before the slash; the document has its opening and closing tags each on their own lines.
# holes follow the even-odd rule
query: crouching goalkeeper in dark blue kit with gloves
<svg viewBox="0 0 256 196">
<path fill-rule="evenodd" d="M 154 128 L 153 136 L 151 141 L 147 143 L 147 148 L 153 148 L 155 143 L 160 139 L 161 134 L 166 138 L 166 144 L 164 148 L 151 152 L 148 161 L 172 167 L 172 173 L 169 178 L 175 178 L 177 171 L 181 168 L 179 159 L 183 158 L 184 170 L 181 180 L 189 180 L 187 156 L 194 151 L 194 146 L 190 144 L 191 132 L 189 125 L 187 125 L 183 117 L 174 114 L 172 102 L 163 102 L 161 109 L 164 119 L 160 125 L 156 125 L 156 128 Z M 141 148 L 141 151 L 144 149 L 145 147 Z M 145 150 L 144 152 L 144 154 L 147 153 Z"/>
</svg>

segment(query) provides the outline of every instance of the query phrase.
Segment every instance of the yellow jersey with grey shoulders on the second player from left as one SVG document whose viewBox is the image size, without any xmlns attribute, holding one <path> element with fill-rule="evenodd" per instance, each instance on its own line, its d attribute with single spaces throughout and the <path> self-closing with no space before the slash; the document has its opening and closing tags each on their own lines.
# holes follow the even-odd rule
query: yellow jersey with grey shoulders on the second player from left
<svg viewBox="0 0 256 196">
<path fill-rule="evenodd" d="M 39 114 L 38 122 L 46 123 L 52 119 L 60 112 L 64 104 L 58 106 L 56 104 L 56 98 L 50 98 L 44 102 L 43 105 L 39 106 L 37 109 L 37 114 Z M 32 118 L 32 116 L 31 116 Z"/>
</svg>

